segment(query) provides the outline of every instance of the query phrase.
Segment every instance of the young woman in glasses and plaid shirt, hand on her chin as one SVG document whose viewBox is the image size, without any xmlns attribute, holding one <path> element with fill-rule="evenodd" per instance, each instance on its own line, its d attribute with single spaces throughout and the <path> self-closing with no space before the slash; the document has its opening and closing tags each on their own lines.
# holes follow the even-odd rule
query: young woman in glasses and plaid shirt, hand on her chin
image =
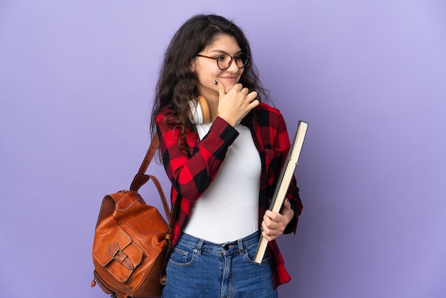
<svg viewBox="0 0 446 298">
<path fill-rule="evenodd" d="M 163 297 L 271 298 L 291 279 L 275 239 L 295 232 L 302 204 L 293 178 L 281 213 L 267 210 L 290 147 L 268 100 L 232 21 L 197 15 L 172 38 L 152 111 L 172 204 L 180 200 Z M 194 117 L 198 101 L 209 120 Z M 257 264 L 260 233 L 269 245 Z"/>
</svg>

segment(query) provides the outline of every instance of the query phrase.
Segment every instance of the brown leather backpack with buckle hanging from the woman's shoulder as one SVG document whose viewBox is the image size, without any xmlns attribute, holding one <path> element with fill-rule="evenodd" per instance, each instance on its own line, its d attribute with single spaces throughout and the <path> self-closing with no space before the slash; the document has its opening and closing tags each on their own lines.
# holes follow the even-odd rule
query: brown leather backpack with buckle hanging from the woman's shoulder
<svg viewBox="0 0 446 298">
<path fill-rule="evenodd" d="M 172 214 L 157 178 L 145 175 L 159 145 L 157 135 L 130 190 L 106 195 L 100 206 L 93 241 L 95 266 L 92 287 L 96 282 L 112 297 L 160 297 L 165 257 L 170 251 L 175 204 Z M 138 190 L 152 180 L 157 187 L 170 225 L 155 207 L 146 205 Z"/>
</svg>

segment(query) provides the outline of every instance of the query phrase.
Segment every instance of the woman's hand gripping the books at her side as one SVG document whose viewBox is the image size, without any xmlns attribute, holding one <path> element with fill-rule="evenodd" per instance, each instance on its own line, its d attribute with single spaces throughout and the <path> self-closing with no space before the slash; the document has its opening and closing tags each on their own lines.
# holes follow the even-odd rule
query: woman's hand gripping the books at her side
<svg viewBox="0 0 446 298">
<path fill-rule="evenodd" d="M 264 219 L 261 222 L 261 235 L 266 240 L 271 241 L 284 233 L 286 226 L 294 217 L 294 210 L 291 209 L 291 204 L 288 199 L 284 200 L 284 205 L 281 213 L 266 210 Z"/>
</svg>

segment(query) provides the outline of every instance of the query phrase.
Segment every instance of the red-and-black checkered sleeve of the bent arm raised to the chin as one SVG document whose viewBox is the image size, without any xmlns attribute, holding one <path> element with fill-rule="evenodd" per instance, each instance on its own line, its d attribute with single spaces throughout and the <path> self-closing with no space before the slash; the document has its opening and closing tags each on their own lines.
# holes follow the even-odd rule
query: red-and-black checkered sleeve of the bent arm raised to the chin
<svg viewBox="0 0 446 298">
<path fill-rule="evenodd" d="M 188 151 L 180 148 L 179 128 L 165 119 L 166 113 L 156 118 L 162 163 L 172 187 L 185 200 L 194 202 L 214 180 L 229 145 L 239 133 L 225 120 L 217 118 L 202 140 L 197 133 L 187 131 Z"/>
</svg>

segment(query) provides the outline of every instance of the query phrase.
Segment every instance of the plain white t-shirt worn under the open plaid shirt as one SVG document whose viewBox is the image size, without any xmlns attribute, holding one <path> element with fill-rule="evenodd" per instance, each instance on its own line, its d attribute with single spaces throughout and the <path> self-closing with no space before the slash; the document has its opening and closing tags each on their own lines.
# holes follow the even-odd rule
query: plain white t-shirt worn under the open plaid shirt
<svg viewBox="0 0 446 298">
<path fill-rule="evenodd" d="M 200 140 L 212 123 L 197 124 Z M 199 197 L 184 232 L 214 243 L 239 240 L 259 230 L 261 160 L 244 125 L 227 150 L 216 178 Z"/>
</svg>

